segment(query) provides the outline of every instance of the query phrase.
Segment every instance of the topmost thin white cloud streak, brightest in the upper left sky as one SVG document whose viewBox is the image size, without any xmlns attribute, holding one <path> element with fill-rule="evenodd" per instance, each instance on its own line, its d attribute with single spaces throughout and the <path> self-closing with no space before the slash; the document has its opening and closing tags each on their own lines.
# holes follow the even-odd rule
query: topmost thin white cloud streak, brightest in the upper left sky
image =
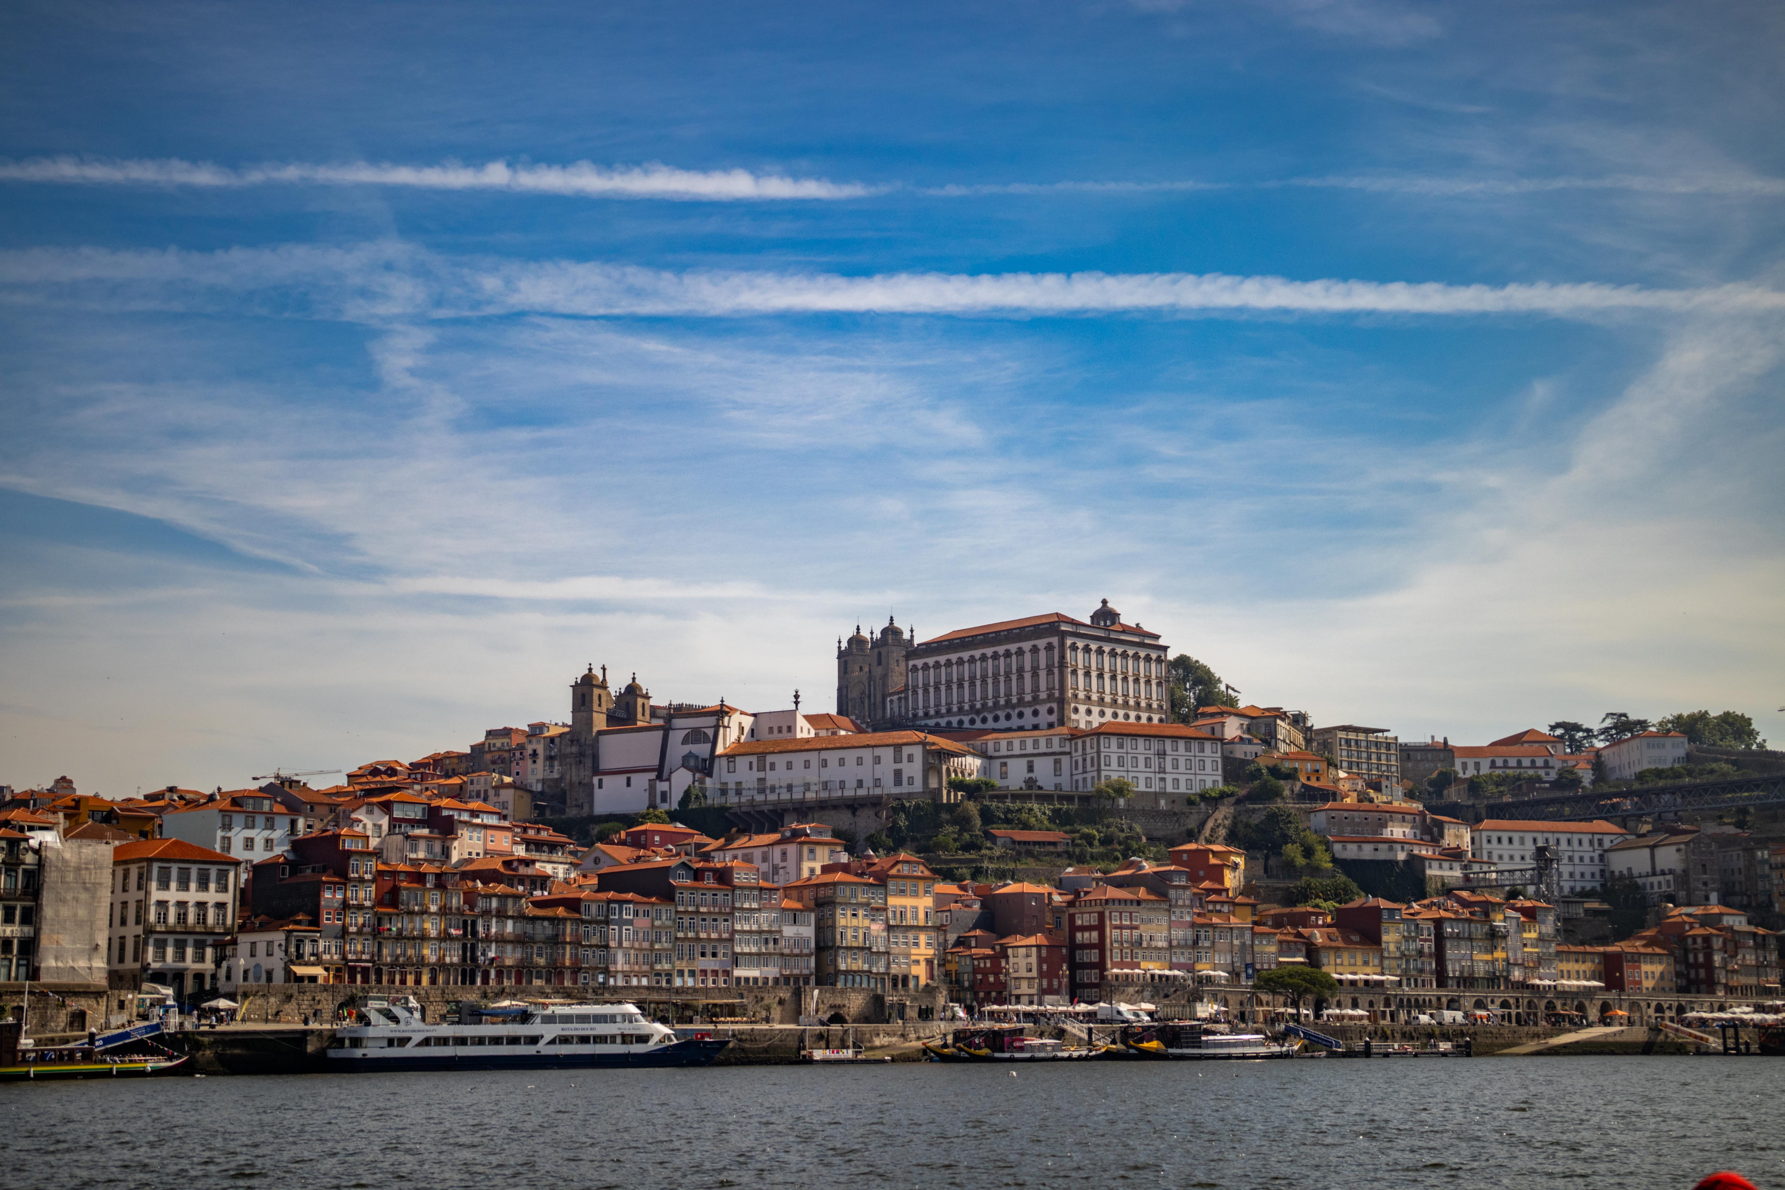
<svg viewBox="0 0 1785 1190">
<path fill-rule="evenodd" d="M 668 198 L 677 202 L 776 202 L 862 198 L 876 193 L 857 182 L 791 178 L 748 169 L 677 169 L 659 162 L 643 166 L 509 164 L 489 161 L 436 166 L 391 162 L 266 162 L 218 166 L 209 161 L 93 157 L 30 157 L 0 161 L 4 182 L 48 182 L 59 186 L 400 186 L 430 191 L 505 191 L 516 194 L 571 194 L 578 198 Z"/>
</svg>

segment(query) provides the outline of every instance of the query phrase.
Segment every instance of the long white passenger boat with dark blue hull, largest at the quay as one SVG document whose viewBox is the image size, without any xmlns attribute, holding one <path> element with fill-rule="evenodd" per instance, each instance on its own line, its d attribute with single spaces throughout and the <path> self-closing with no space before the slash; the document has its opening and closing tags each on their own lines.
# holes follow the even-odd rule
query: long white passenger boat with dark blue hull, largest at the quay
<svg viewBox="0 0 1785 1190">
<path fill-rule="evenodd" d="M 428 1024 L 414 997 L 371 999 L 328 1045 L 336 1070 L 703 1067 L 728 1038 L 677 1038 L 635 1004 L 516 1004 L 478 1024 Z"/>
</svg>

